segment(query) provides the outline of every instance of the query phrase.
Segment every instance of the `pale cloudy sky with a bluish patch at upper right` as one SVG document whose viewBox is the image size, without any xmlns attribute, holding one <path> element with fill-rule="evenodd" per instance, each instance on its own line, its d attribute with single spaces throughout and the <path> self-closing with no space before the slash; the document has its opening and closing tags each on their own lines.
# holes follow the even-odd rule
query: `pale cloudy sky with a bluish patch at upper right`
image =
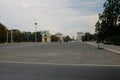
<svg viewBox="0 0 120 80">
<path fill-rule="evenodd" d="M 76 36 L 95 32 L 105 0 L 0 0 L 0 22 L 20 31 L 49 30 Z"/>
</svg>

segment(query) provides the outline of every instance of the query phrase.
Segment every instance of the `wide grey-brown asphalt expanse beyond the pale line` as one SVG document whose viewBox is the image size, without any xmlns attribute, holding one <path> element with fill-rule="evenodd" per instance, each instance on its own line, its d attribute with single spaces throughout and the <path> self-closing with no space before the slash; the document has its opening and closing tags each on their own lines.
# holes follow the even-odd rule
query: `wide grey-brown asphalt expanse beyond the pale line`
<svg viewBox="0 0 120 80">
<path fill-rule="evenodd" d="M 0 46 L 0 61 L 120 65 L 120 55 L 85 43 L 31 43 Z"/>
</svg>

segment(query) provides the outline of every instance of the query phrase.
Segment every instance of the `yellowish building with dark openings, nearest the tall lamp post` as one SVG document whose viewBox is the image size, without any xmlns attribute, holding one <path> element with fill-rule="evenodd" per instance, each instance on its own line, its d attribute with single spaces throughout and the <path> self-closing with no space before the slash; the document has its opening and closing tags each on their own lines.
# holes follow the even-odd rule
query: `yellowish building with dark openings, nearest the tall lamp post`
<svg viewBox="0 0 120 80">
<path fill-rule="evenodd" d="M 48 30 L 40 31 L 42 35 L 42 42 L 51 42 L 51 34 Z"/>
</svg>

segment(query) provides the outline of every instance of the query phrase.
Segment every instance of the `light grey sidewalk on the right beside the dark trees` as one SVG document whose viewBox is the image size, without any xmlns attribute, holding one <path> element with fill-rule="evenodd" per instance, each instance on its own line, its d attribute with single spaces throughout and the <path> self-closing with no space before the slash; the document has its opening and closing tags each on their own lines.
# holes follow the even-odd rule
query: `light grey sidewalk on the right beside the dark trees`
<svg viewBox="0 0 120 80">
<path fill-rule="evenodd" d="M 85 43 L 98 47 L 98 44 L 96 42 L 85 42 Z M 104 49 L 120 55 L 120 46 L 104 44 Z"/>
</svg>

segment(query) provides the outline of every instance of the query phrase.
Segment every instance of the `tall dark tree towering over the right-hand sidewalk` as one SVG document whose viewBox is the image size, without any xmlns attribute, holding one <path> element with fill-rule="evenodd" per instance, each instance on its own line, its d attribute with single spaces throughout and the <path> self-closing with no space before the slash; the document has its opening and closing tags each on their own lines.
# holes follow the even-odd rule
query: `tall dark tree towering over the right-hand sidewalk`
<svg viewBox="0 0 120 80">
<path fill-rule="evenodd" d="M 95 25 L 98 40 L 120 35 L 120 25 L 117 25 L 117 17 L 119 15 L 120 0 L 106 0 L 104 11 L 99 14 L 99 20 Z"/>
</svg>

